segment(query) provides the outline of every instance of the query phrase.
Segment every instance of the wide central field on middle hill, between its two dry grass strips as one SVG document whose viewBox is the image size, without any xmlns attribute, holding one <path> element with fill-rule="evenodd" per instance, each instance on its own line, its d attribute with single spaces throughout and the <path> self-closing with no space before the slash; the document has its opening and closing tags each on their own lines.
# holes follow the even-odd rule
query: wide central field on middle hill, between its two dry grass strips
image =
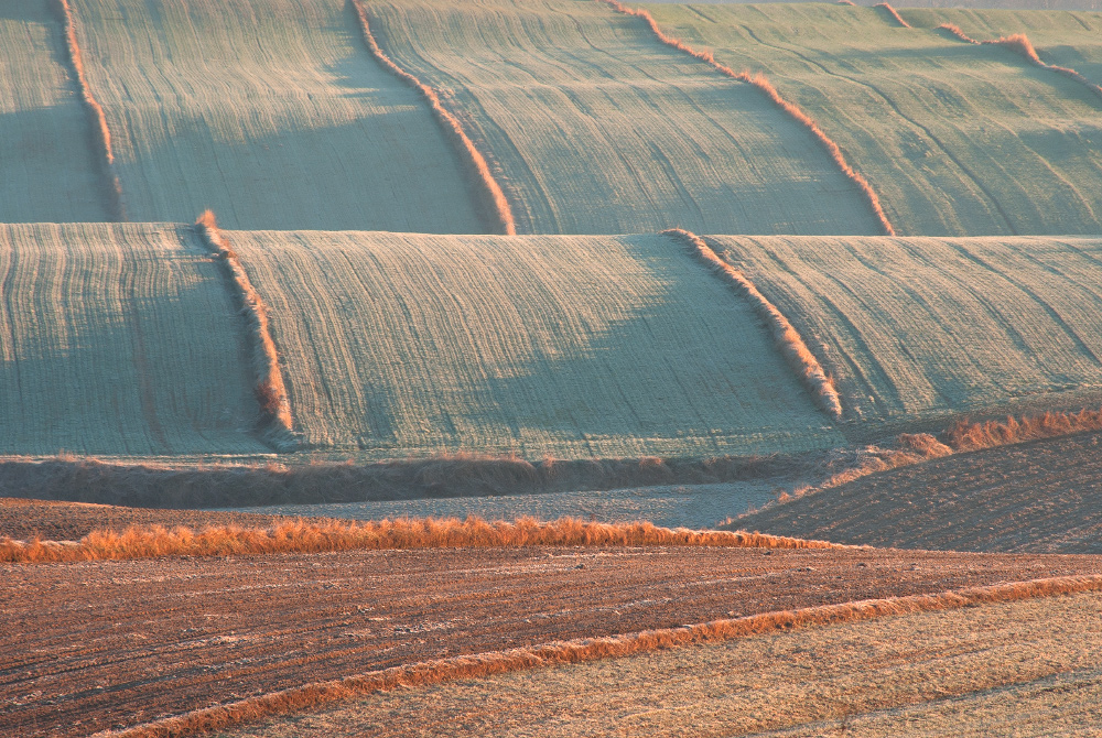
<svg viewBox="0 0 1102 738">
<path fill-rule="evenodd" d="M 672 238 L 228 234 L 295 426 L 404 458 L 840 445 L 750 305 Z"/>
</svg>

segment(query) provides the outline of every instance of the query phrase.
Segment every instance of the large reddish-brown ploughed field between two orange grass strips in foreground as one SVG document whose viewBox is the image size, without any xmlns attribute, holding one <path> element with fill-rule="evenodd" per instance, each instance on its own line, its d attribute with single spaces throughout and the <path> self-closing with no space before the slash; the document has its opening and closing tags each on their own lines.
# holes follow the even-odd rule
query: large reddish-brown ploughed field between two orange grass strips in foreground
<svg viewBox="0 0 1102 738">
<path fill-rule="evenodd" d="M 437 549 L 0 567 L 0 735 L 84 736 L 463 653 L 1102 573 L 1088 556 Z"/>
</svg>

